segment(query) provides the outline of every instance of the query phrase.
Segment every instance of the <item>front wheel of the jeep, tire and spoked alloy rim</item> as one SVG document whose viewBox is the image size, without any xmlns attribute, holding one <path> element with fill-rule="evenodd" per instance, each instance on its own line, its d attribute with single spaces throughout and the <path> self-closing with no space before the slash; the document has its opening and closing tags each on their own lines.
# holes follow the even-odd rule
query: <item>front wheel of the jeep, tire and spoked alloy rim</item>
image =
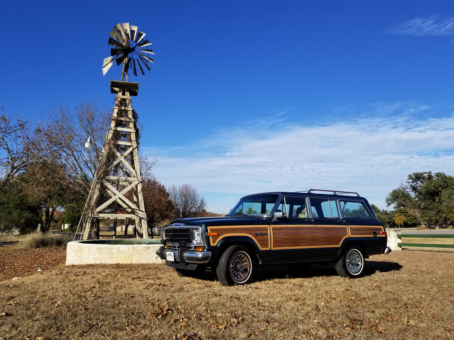
<svg viewBox="0 0 454 340">
<path fill-rule="evenodd" d="M 221 255 L 216 274 L 222 286 L 244 285 L 252 281 L 254 269 L 249 249 L 232 246 Z"/>
</svg>

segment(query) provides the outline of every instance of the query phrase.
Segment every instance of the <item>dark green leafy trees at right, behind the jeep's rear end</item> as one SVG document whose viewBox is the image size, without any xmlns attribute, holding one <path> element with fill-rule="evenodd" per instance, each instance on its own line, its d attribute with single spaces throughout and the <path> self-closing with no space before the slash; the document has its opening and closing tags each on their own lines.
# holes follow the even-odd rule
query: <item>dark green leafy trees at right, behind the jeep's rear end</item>
<svg viewBox="0 0 454 340">
<path fill-rule="evenodd" d="M 380 210 L 372 204 L 385 227 L 426 223 L 428 228 L 448 228 L 454 222 L 454 177 L 443 172 L 415 172 L 388 194 L 386 204 L 394 210 Z"/>
</svg>

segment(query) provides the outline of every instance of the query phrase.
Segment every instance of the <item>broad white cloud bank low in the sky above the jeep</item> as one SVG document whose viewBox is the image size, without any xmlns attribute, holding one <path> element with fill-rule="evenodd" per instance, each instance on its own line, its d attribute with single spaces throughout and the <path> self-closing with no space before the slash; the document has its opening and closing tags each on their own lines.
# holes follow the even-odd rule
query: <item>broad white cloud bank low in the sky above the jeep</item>
<svg viewBox="0 0 454 340">
<path fill-rule="evenodd" d="M 270 129 L 261 120 L 224 127 L 178 148 L 143 151 L 158 159 L 158 180 L 166 186 L 195 185 L 212 211 L 218 199 L 220 212 L 227 212 L 244 194 L 311 188 L 357 191 L 384 209 L 386 195 L 412 172 L 454 175 L 454 116 L 408 116 L 424 108 L 400 106 L 405 114 L 398 117 L 375 115 L 323 126 L 281 121 Z"/>
</svg>

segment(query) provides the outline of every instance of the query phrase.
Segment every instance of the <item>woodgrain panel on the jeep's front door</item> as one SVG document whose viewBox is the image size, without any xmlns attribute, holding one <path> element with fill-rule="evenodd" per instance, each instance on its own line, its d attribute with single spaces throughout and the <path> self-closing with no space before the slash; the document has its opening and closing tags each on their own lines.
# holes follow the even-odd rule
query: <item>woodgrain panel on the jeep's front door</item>
<svg viewBox="0 0 454 340">
<path fill-rule="evenodd" d="M 317 228 L 314 225 L 272 226 L 272 249 L 317 248 Z"/>
</svg>

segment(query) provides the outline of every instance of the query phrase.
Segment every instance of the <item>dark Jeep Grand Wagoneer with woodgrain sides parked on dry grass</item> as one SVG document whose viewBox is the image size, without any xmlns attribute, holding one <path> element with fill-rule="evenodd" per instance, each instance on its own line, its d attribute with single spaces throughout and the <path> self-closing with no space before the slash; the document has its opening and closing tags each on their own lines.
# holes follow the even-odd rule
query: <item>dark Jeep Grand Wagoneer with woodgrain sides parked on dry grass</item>
<svg viewBox="0 0 454 340">
<path fill-rule="evenodd" d="M 328 194 L 329 193 L 329 194 Z M 224 286 L 251 282 L 256 266 L 334 262 L 359 277 L 364 259 L 390 253 L 386 231 L 357 193 L 311 189 L 240 199 L 225 217 L 177 219 L 156 252 L 181 276 L 216 270 Z"/>
</svg>

